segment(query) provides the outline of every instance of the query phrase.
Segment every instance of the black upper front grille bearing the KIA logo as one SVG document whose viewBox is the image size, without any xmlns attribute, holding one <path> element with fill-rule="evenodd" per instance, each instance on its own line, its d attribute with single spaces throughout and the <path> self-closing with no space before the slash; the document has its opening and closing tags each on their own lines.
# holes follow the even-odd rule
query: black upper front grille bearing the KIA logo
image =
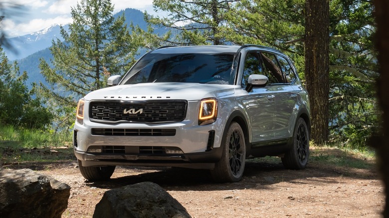
<svg viewBox="0 0 389 218">
<path fill-rule="evenodd" d="M 187 101 L 91 101 L 89 117 L 95 122 L 176 122 L 185 119 Z"/>
</svg>

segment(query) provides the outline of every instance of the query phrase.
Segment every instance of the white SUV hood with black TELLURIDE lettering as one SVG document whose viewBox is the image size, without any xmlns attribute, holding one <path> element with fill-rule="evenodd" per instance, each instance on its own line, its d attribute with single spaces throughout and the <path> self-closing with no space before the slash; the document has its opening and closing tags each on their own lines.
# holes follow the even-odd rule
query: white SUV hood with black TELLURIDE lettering
<svg viewBox="0 0 389 218">
<path fill-rule="evenodd" d="M 152 99 L 185 99 L 187 101 L 217 98 L 234 94 L 237 86 L 199 83 L 140 83 L 96 90 L 85 100 L 142 101 Z"/>
</svg>

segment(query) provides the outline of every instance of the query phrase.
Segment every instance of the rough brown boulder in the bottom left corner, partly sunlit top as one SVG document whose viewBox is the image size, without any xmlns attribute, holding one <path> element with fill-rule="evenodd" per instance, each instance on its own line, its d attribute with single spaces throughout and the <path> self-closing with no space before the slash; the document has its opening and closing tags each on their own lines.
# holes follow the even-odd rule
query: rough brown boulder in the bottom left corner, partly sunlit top
<svg viewBox="0 0 389 218">
<path fill-rule="evenodd" d="M 0 169 L 0 217 L 61 218 L 70 186 L 30 169 Z"/>
</svg>

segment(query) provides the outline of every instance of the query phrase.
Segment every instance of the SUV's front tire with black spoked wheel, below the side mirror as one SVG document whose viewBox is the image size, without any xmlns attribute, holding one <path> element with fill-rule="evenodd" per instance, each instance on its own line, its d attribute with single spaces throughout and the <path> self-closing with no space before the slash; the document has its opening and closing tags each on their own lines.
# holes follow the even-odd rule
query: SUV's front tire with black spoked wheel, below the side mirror
<svg viewBox="0 0 389 218">
<path fill-rule="evenodd" d="M 231 122 L 221 141 L 223 153 L 211 176 L 215 182 L 238 182 L 243 175 L 246 160 L 246 144 L 243 130 L 236 122 Z"/>
</svg>

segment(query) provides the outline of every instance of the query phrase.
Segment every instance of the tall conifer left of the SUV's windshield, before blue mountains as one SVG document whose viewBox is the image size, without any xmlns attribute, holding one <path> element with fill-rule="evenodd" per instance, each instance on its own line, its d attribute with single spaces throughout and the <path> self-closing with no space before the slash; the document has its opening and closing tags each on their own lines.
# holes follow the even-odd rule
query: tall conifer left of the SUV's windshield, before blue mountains
<svg viewBox="0 0 389 218">
<path fill-rule="evenodd" d="M 79 1 L 71 8 L 69 33 L 61 27 L 64 41 L 52 42 L 51 64 L 40 60 L 49 86 L 40 84 L 39 94 L 56 112 L 57 124 L 69 127 L 78 99 L 106 87 L 111 74 L 123 75 L 134 62 L 141 38 L 131 35 L 124 16 L 115 19 L 113 10 L 110 0 Z"/>
</svg>

